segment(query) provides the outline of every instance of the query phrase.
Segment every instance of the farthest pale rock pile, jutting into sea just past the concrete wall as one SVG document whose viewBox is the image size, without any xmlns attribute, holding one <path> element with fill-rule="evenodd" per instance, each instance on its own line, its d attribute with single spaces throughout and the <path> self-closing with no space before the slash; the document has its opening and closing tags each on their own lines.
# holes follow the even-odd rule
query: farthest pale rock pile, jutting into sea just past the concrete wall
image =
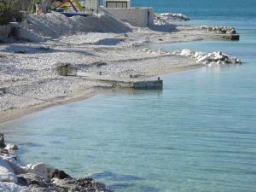
<svg viewBox="0 0 256 192">
<path fill-rule="evenodd" d="M 172 14 L 172 13 L 163 13 L 154 15 L 154 25 L 163 26 L 170 24 L 172 21 L 185 21 L 190 20 L 188 16 L 183 14 Z"/>
</svg>

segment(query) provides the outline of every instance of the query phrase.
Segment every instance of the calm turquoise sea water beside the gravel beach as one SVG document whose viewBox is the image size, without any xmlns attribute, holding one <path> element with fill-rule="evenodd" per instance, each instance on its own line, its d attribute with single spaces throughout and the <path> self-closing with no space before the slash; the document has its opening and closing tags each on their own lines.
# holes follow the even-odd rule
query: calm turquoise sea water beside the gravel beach
<svg viewBox="0 0 256 192">
<path fill-rule="evenodd" d="M 74 177 L 86 172 L 116 191 L 255 192 L 255 2 L 220 1 L 230 6 L 224 11 L 218 1 L 134 1 L 147 3 L 166 12 L 170 6 L 193 24 L 221 23 L 241 33 L 239 42 L 154 48 L 221 50 L 244 64 L 166 75 L 162 91 L 109 91 L 5 123 L 0 131 L 20 146 L 21 160 L 44 161 Z M 212 11 L 203 12 L 207 6 Z"/>
</svg>

